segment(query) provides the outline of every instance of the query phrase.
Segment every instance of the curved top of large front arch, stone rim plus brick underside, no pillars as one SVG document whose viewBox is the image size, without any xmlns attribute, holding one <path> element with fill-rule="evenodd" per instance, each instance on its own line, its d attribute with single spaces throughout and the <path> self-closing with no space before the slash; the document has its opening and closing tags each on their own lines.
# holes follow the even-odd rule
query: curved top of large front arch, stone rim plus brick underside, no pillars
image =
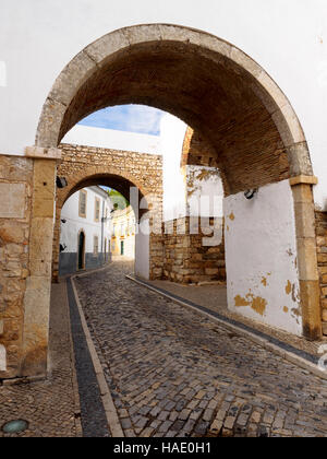
<svg viewBox="0 0 327 459">
<path fill-rule="evenodd" d="M 195 32 L 184 27 L 183 42 L 141 36 L 140 43 L 129 35 L 136 28 L 112 34 L 113 43 L 114 34 L 123 37 L 114 52 L 109 52 L 109 34 L 68 66 L 44 107 L 37 144 L 57 146 L 76 122 L 101 108 L 144 104 L 175 115 L 205 140 L 215 152 L 226 195 L 290 175 L 312 175 L 301 126 L 287 98 L 258 64 L 222 40 L 215 38 L 214 43 L 207 34 L 204 36 L 215 45 L 210 49 L 190 43 L 187 33 Z M 156 35 L 149 30 L 149 35 Z M 160 37 L 162 30 L 165 26 Z M 71 87 L 70 72 L 81 66 L 84 74 Z M 265 79 L 266 86 L 276 92 L 276 101 L 258 82 Z M 282 111 L 290 113 L 292 127 Z M 299 144 L 302 150 L 294 146 Z M 300 151 L 304 160 L 296 158 Z"/>
</svg>

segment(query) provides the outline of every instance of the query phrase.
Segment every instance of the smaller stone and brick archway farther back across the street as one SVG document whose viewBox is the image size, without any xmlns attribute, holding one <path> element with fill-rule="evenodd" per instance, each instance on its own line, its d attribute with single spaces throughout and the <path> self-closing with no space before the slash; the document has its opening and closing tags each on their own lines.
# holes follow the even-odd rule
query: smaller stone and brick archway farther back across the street
<svg viewBox="0 0 327 459">
<path fill-rule="evenodd" d="M 156 275 L 160 275 L 161 258 L 156 246 L 159 236 L 145 233 L 142 228 L 147 220 L 152 219 L 152 212 L 157 214 L 161 212 L 161 156 L 133 153 L 134 162 L 131 162 L 131 152 L 75 144 L 61 144 L 61 149 L 62 158 L 57 175 L 64 178 L 68 185 L 57 189 L 52 279 L 58 281 L 59 276 L 63 205 L 83 188 L 99 185 L 119 191 L 129 202 L 135 224 L 141 223 L 140 231 L 135 235 L 135 272 L 144 279 L 155 279 Z M 108 247 L 107 244 L 107 251 Z M 128 249 L 128 246 L 124 248 Z M 69 264 L 71 263 L 70 261 Z"/>
</svg>

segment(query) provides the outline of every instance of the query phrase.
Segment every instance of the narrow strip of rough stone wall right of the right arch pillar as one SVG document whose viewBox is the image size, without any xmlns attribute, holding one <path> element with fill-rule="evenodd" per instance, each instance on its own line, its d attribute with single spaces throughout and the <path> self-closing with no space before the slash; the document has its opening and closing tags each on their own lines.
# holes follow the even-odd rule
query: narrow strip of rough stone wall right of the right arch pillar
<svg viewBox="0 0 327 459">
<path fill-rule="evenodd" d="M 315 212 L 323 333 L 327 336 L 327 212 Z"/>
</svg>

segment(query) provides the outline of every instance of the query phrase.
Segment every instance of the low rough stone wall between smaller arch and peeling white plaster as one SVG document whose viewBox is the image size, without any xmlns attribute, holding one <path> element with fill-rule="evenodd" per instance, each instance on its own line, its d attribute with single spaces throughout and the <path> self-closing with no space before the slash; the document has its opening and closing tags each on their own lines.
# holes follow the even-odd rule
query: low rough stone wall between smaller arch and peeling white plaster
<svg viewBox="0 0 327 459">
<path fill-rule="evenodd" d="M 192 219 L 194 224 L 194 217 Z M 214 219 L 208 219 L 208 226 L 214 226 Z M 204 238 L 213 237 L 213 231 L 204 225 L 198 234 L 192 233 L 191 219 L 183 217 L 166 222 L 164 235 L 164 275 L 162 279 L 190 284 L 203 282 L 226 282 L 225 242 L 222 235 L 219 244 L 204 244 Z M 199 225 L 198 225 L 199 226 Z"/>
</svg>

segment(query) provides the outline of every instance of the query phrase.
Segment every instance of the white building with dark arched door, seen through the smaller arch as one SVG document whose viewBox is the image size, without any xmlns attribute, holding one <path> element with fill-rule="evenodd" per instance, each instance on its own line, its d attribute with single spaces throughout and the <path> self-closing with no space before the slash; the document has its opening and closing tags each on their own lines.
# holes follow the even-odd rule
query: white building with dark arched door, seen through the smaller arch
<svg viewBox="0 0 327 459">
<path fill-rule="evenodd" d="M 109 262 L 111 210 L 100 187 L 83 188 L 68 199 L 61 211 L 60 275 Z"/>
</svg>

